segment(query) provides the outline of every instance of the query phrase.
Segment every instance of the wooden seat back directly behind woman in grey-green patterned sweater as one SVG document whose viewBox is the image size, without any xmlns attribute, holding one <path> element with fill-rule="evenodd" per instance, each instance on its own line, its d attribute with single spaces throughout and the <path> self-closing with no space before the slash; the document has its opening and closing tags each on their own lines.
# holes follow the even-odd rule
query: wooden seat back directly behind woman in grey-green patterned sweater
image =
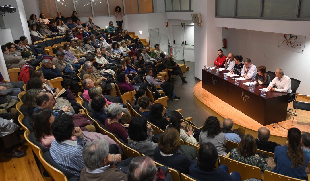
<svg viewBox="0 0 310 181">
<path fill-rule="evenodd" d="M 257 166 L 248 165 L 245 163 L 238 162 L 223 155 L 219 156 L 220 163 L 228 167 L 229 172 L 237 171 L 241 176 L 241 180 L 246 180 L 250 178 L 260 179 L 260 168 Z"/>
</svg>

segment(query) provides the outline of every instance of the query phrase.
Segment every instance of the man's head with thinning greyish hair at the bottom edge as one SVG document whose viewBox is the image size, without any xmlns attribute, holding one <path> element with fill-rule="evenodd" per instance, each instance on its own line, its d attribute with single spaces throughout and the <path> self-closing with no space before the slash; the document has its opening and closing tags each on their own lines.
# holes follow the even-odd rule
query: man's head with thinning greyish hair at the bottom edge
<svg viewBox="0 0 310 181">
<path fill-rule="evenodd" d="M 128 166 L 128 180 L 153 181 L 156 173 L 156 165 L 152 158 L 148 156 L 135 157 Z"/>
</svg>

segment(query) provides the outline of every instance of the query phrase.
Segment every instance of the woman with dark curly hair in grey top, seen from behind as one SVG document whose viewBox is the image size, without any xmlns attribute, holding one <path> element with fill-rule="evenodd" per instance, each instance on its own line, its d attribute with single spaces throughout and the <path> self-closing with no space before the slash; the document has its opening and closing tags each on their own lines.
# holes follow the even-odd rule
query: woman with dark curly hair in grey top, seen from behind
<svg viewBox="0 0 310 181">
<path fill-rule="evenodd" d="M 221 132 L 219 120 L 215 116 L 209 116 L 206 119 L 205 124 L 201 128 L 199 135 L 199 144 L 211 142 L 217 149 L 218 155 L 226 156 L 225 145 L 226 138 L 225 134 Z"/>
</svg>

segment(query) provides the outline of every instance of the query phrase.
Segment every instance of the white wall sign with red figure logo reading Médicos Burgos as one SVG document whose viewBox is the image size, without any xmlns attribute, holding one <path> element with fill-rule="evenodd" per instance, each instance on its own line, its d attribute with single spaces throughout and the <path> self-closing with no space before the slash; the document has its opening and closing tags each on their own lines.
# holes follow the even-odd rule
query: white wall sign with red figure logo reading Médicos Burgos
<svg viewBox="0 0 310 181">
<path fill-rule="evenodd" d="M 278 47 L 303 53 L 306 36 L 280 34 Z"/>
</svg>

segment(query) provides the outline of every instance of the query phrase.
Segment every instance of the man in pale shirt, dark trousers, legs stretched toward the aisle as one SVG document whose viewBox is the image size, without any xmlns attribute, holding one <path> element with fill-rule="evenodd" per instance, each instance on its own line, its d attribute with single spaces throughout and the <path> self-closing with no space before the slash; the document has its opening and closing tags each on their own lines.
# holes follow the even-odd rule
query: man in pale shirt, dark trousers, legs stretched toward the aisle
<svg viewBox="0 0 310 181">
<path fill-rule="evenodd" d="M 165 91 L 165 94 L 168 96 L 168 97 L 173 97 L 173 100 L 176 101 L 176 100 L 179 100 L 180 97 L 176 96 L 175 92 L 174 92 L 174 86 L 171 85 L 170 83 L 168 82 L 165 82 L 164 79 L 162 80 L 159 80 L 159 79 L 155 79 L 153 77 L 153 70 L 151 68 L 147 68 L 146 69 L 146 80 L 148 81 L 148 84 L 150 84 L 151 86 L 152 85 L 160 85 L 161 88 Z"/>
</svg>

